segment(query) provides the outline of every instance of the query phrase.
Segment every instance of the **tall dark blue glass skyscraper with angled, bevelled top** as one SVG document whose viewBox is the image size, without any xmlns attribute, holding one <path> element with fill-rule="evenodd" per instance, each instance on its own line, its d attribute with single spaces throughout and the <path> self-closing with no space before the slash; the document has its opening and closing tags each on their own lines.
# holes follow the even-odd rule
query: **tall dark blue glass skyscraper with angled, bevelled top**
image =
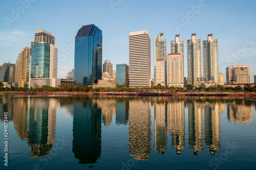
<svg viewBox="0 0 256 170">
<path fill-rule="evenodd" d="M 93 85 L 102 76 L 102 31 L 82 26 L 75 37 L 75 85 Z"/>
</svg>

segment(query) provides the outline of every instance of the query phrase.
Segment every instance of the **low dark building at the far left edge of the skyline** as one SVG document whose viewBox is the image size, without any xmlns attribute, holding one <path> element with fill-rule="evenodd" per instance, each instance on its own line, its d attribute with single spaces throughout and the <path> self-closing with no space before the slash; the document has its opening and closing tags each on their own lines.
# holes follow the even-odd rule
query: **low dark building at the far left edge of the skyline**
<svg viewBox="0 0 256 170">
<path fill-rule="evenodd" d="M 14 83 L 15 81 L 15 64 L 10 62 L 4 63 L 0 71 L 0 82 Z"/>
</svg>

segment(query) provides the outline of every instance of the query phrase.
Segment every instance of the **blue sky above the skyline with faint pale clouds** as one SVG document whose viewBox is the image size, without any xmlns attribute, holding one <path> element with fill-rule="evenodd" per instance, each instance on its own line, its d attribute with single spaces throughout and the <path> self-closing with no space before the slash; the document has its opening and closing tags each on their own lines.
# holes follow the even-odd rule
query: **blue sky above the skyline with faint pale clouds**
<svg viewBox="0 0 256 170">
<path fill-rule="evenodd" d="M 184 40 L 184 74 L 187 77 L 186 40 L 197 33 L 197 38 L 203 41 L 212 33 L 219 43 L 220 72 L 225 75 L 227 66 L 245 64 L 251 67 L 253 76 L 256 75 L 255 7 L 254 0 L 2 1 L 0 63 L 15 64 L 22 48 L 30 47 L 34 32 L 45 30 L 55 35 L 55 45 L 59 49 L 58 78 L 65 78 L 74 68 L 77 31 L 93 23 L 102 30 L 102 63 L 111 60 L 113 69 L 116 64 L 129 64 L 129 32 L 147 30 L 152 41 L 152 68 L 154 37 L 164 33 L 169 54 L 170 40 L 180 34 Z"/>
</svg>

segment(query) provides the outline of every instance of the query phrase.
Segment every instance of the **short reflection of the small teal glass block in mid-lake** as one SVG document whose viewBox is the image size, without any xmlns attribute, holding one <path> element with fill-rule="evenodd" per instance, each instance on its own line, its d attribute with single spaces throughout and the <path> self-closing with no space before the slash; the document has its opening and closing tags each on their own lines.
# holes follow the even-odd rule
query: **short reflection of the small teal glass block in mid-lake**
<svg viewBox="0 0 256 170">
<path fill-rule="evenodd" d="M 129 122 L 129 99 L 116 100 L 116 124 L 127 125 Z"/>
</svg>

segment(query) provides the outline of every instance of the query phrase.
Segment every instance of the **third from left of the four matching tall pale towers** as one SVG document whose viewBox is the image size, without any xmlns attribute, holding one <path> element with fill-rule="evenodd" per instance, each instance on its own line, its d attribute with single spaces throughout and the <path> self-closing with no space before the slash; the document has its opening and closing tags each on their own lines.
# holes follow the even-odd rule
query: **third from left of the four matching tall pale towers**
<svg viewBox="0 0 256 170">
<path fill-rule="evenodd" d="M 201 66 L 201 39 L 193 33 L 187 40 L 187 84 L 194 85 L 202 79 Z"/>
</svg>

